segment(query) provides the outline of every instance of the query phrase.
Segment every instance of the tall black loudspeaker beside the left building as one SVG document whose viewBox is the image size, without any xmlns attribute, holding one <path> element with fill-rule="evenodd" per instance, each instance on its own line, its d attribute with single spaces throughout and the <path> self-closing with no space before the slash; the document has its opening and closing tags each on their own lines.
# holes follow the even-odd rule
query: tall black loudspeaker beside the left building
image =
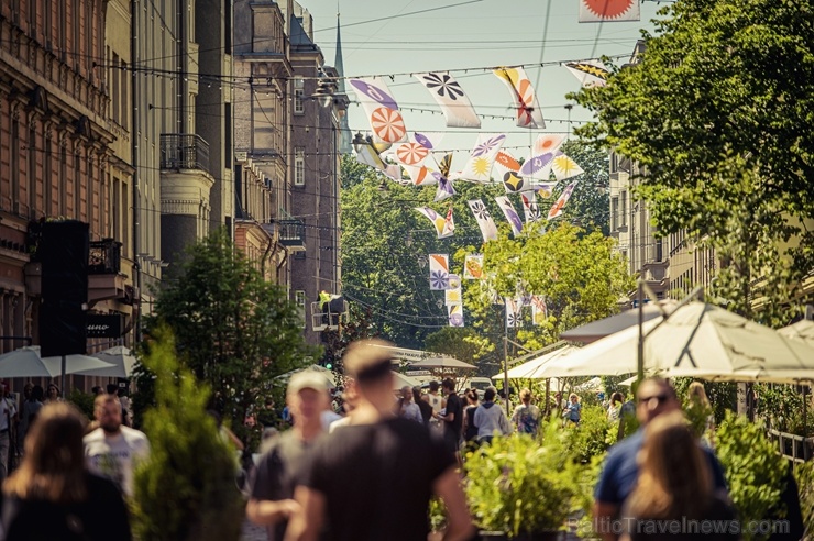
<svg viewBox="0 0 814 541">
<path fill-rule="evenodd" d="M 45 222 L 37 247 L 42 262 L 40 347 L 44 357 L 85 354 L 88 302 L 88 224 Z"/>
</svg>

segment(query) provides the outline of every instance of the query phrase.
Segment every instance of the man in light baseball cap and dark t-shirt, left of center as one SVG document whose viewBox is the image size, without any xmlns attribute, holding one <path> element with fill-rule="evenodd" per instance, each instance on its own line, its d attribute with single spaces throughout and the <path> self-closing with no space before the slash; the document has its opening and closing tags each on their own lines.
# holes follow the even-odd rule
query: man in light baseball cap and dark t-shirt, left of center
<svg viewBox="0 0 814 541">
<path fill-rule="evenodd" d="M 328 380 L 318 372 L 302 371 L 288 382 L 286 404 L 294 427 L 280 434 L 261 457 L 251 482 L 249 519 L 265 526 L 268 539 L 282 541 L 289 517 L 299 510 L 294 487 L 308 454 L 322 433 L 322 411 L 328 409 Z"/>
</svg>

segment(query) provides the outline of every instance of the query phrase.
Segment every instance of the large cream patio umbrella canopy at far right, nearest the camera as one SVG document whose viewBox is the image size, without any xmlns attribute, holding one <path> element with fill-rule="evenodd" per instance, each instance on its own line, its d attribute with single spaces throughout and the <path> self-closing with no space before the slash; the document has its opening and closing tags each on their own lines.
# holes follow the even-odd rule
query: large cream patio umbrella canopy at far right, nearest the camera
<svg viewBox="0 0 814 541">
<path fill-rule="evenodd" d="M 814 380 L 814 347 L 703 302 L 690 302 L 663 323 L 645 323 L 645 369 L 664 376 L 717 380 L 801 383 Z M 550 375 L 622 375 L 637 371 L 638 329 L 630 328 L 590 344 Z"/>
</svg>

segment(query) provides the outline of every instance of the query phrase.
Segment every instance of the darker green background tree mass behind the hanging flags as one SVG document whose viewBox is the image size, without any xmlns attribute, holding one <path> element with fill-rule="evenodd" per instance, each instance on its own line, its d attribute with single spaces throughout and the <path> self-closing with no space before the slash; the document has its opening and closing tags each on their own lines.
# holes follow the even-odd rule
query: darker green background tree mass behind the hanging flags
<svg viewBox="0 0 814 541">
<path fill-rule="evenodd" d="M 607 184 L 607 156 L 579 142 L 566 143 L 564 150 L 586 172 L 565 207 L 564 219 L 580 221 L 586 229 L 606 222 L 607 196 L 596 188 Z M 496 196 L 506 195 L 503 184 L 459 181 L 453 198 L 436 203 L 435 186 L 398 185 L 352 157 L 342 161 L 342 178 L 343 292 L 352 303 L 371 310 L 376 333 L 400 346 L 422 349 L 428 335 L 448 327 L 443 294 L 429 289 L 428 254 L 481 252 L 483 239 L 466 201 L 483 200 L 495 222 L 505 224 L 495 202 Z M 386 190 L 380 189 L 383 184 Z M 541 199 L 541 209 L 547 211 L 556 197 Z M 519 197 L 509 198 L 522 214 Z M 454 235 L 437 239 L 429 221 L 414 210 L 424 206 L 440 214 L 451 206 Z M 510 233 L 502 228 L 502 234 Z M 471 321 L 466 306 L 464 319 Z M 466 341 L 476 343 L 482 360 L 494 350 L 491 335 L 473 335 Z"/>
</svg>

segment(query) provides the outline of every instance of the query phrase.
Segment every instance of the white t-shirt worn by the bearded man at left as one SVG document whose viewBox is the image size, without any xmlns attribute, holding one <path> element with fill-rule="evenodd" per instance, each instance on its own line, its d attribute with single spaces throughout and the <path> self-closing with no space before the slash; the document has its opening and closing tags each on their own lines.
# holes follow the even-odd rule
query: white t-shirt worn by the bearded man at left
<svg viewBox="0 0 814 541">
<path fill-rule="evenodd" d="M 121 432 L 108 437 L 98 428 L 85 437 L 85 462 L 91 473 L 119 485 L 128 497 L 133 496 L 135 462 L 150 454 L 150 441 L 144 432 L 122 424 Z"/>
</svg>

